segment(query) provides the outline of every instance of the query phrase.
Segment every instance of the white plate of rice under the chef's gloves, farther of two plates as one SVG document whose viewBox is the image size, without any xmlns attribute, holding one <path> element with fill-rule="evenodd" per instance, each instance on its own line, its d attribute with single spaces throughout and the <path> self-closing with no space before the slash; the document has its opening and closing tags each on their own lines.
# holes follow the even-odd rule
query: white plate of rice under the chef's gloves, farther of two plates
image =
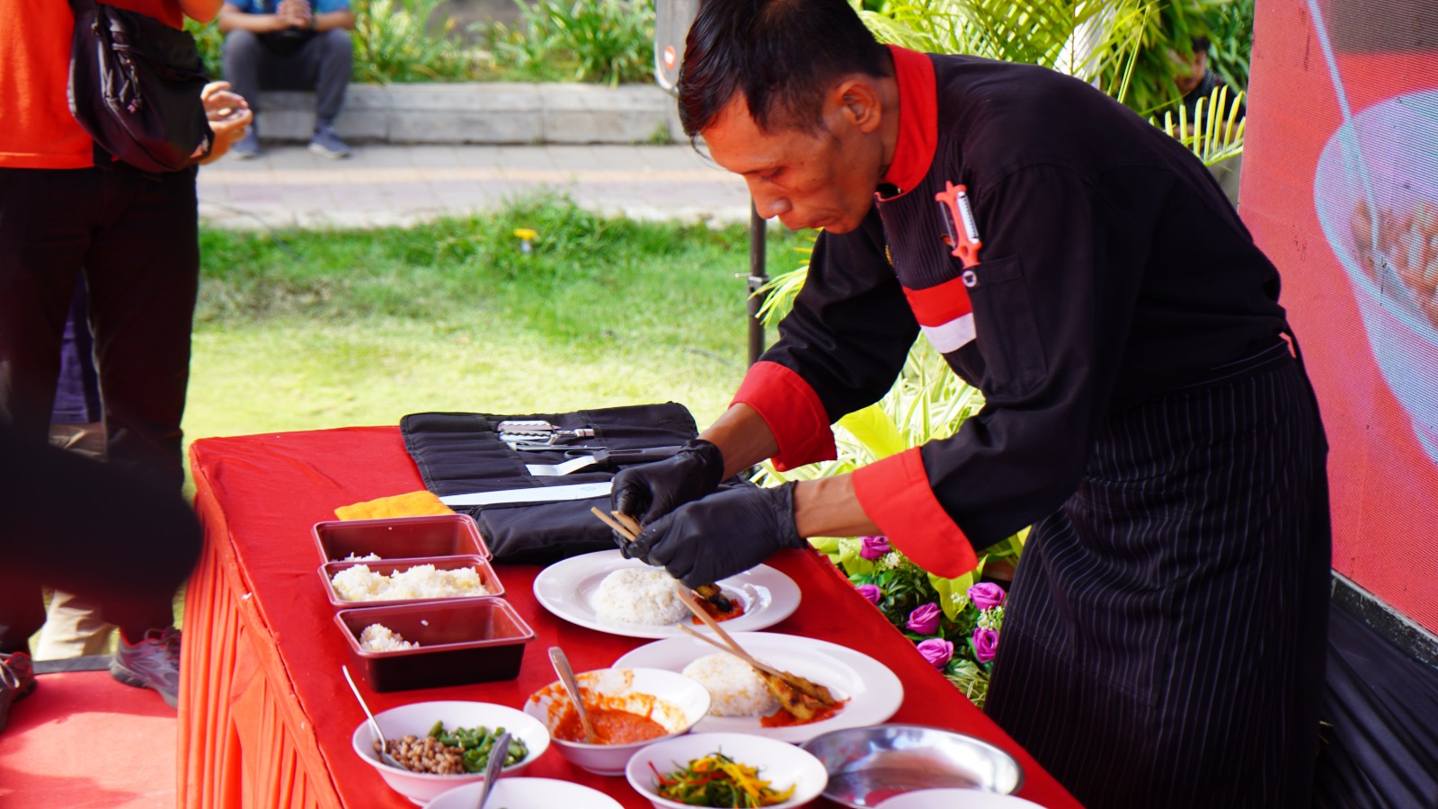
<svg viewBox="0 0 1438 809">
<path fill-rule="evenodd" d="M 610 635 L 628 638 L 683 638 L 677 625 L 656 626 L 653 623 L 628 623 L 607 620 L 594 609 L 594 597 L 600 582 L 621 567 L 647 567 L 637 559 L 624 559 L 614 550 L 601 550 L 557 561 L 535 577 L 535 599 L 558 618 Z M 794 613 L 800 606 L 800 586 L 794 579 L 768 564 L 745 570 L 718 582 L 719 589 L 731 599 L 743 605 L 743 615 L 723 622 L 731 632 L 764 629 L 774 626 Z M 686 619 L 689 620 L 689 619 Z"/>
</svg>

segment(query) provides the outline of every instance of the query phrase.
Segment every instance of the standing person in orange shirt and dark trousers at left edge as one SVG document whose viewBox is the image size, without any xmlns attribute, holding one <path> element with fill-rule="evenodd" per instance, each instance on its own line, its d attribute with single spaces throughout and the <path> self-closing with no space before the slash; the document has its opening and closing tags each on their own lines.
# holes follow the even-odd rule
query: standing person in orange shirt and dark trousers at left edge
<svg viewBox="0 0 1438 809">
<path fill-rule="evenodd" d="M 173 27 L 187 16 L 214 19 L 220 3 L 114 0 Z M 66 98 L 69 6 L 0 0 L 0 422 L 19 440 L 47 440 L 66 312 L 83 274 L 108 462 L 178 491 L 200 275 L 196 168 L 150 174 L 98 160 Z M 207 85 L 201 99 L 216 132 L 213 160 L 239 140 L 250 114 L 223 82 Z M 92 537 L 96 556 L 114 556 L 104 524 Z M 127 612 L 111 665 L 116 679 L 154 688 L 170 705 L 180 648 L 173 597 L 151 592 L 148 609 Z M 43 620 L 39 582 L 0 586 L 0 654 L 24 655 Z"/>
</svg>

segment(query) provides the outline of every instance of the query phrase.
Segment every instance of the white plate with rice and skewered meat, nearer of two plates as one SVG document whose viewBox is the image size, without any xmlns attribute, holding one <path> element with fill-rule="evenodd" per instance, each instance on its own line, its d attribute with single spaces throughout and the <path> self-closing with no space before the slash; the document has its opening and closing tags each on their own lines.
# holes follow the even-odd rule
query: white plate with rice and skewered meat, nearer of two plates
<svg viewBox="0 0 1438 809">
<path fill-rule="evenodd" d="M 779 635 L 777 632 L 731 632 L 759 662 L 797 674 L 825 687 L 848 704 L 833 717 L 791 727 L 764 727 L 759 717 L 705 717 L 692 733 L 752 733 L 781 741 L 801 743 L 821 733 L 846 727 L 880 724 L 903 704 L 903 684 L 884 664 L 848 646 Z M 683 635 L 646 643 L 620 659 L 614 668 L 667 668 L 683 671 L 693 661 L 718 652 L 709 643 Z"/>
</svg>

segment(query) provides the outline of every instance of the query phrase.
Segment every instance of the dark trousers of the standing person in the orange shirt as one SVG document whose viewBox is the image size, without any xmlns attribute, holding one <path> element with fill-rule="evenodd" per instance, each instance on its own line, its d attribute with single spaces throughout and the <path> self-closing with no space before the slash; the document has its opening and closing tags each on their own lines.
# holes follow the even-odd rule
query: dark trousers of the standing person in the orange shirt
<svg viewBox="0 0 1438 809">
<path fill-rule="evenodd" d="M 180 420 L 200 275 L 194 177 L 193 168 L 157 176 L 125 164 L 0 168 L 0 422 L 20 440 L 47 440 L 65 321 L 83 274 L 108 462 L 171 492 L 184 482 Z M 9 498 L 13 489 L 0 491 Z M 93 530 L 101 541 L 105 524 Z M 150 595 L 160 623 L 122 628 L 168 626 L 173 596 Z M 37 582 L 0 586 L 0 648 L 43 620 Z"/>
</svg>

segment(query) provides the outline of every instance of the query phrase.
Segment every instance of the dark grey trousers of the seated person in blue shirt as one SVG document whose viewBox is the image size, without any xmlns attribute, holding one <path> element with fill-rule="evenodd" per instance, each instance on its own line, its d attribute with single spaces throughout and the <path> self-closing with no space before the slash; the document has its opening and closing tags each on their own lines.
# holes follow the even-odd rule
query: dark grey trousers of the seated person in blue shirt
<svg viewBox="0 0 1438 809">
<path fill-rule="evenodd" d="M 328 127 L 339 117 L 349 88 L 354 46 L 349 32 L 331 29 L 316 33 L 292 53 L 279 53 L 263 37 L 232 30 L 224 37 L 224 78 L 230 89 L 260 111 L 260 89 L 315 91 L 315 125 Z"/>
</svg>

